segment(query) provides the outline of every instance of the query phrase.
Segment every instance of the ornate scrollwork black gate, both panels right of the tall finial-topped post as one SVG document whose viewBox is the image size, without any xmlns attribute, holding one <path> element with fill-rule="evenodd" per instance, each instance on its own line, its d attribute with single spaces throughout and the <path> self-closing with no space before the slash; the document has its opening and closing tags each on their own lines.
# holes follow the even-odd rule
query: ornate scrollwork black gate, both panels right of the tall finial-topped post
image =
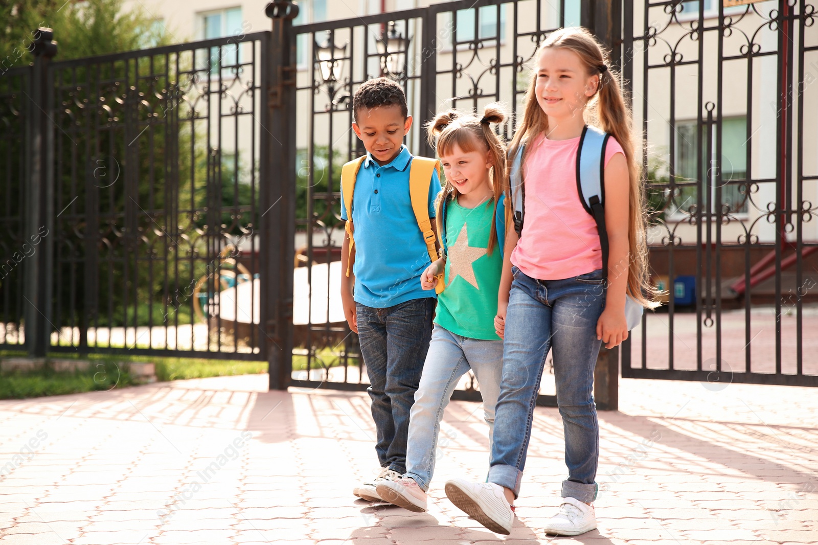
<svg viewBox="0 0 818 545">
<path fill-rule="evenodd" d="M 342 240 L 340 165 L 363 152 L 349 129 L 357 85 L 379 75 L 401 82 L 416 119 L 407 145 L 431 155 L 418 121 L 450 105 L 501 100 L 516 110 L 539 43 L 582 24 L 608 44 L 632 93 L 645 144 L 651 267 L 671 293 L 623 345 L 622 376 L 712 388 L 818 385 L 816 360 L 805 356 L 818 349 L 809 335 L 818 327 L 818 167 L 804 159 L 805 142 L 818 149 L 818 135 L 803 123 L 818 103 L 818 85 L 809 87 L 818 77 L 818 31 L 813 7 L 792 3 L 447 2 L 294 27 L 303 119 L 297 264 L 311 290 L 300 293 L 312 298 L 299 303 L 297 281 L 295 312 L 303 316 L 295 320 L 301 359 L 293 384 L 362 387 L 360 367 L 350 367 L 355 336 L 331 301 L 339 289 L 332 263 L 339 265 Z M 742 63 L 744 71 L 735 68 Z M 760 106 L 772 115 L 754 113 Z M 513 131 L 511 119 L 504 132 Z M 615 355 L 598 365 L 613 407 Z"/>
</svg>

